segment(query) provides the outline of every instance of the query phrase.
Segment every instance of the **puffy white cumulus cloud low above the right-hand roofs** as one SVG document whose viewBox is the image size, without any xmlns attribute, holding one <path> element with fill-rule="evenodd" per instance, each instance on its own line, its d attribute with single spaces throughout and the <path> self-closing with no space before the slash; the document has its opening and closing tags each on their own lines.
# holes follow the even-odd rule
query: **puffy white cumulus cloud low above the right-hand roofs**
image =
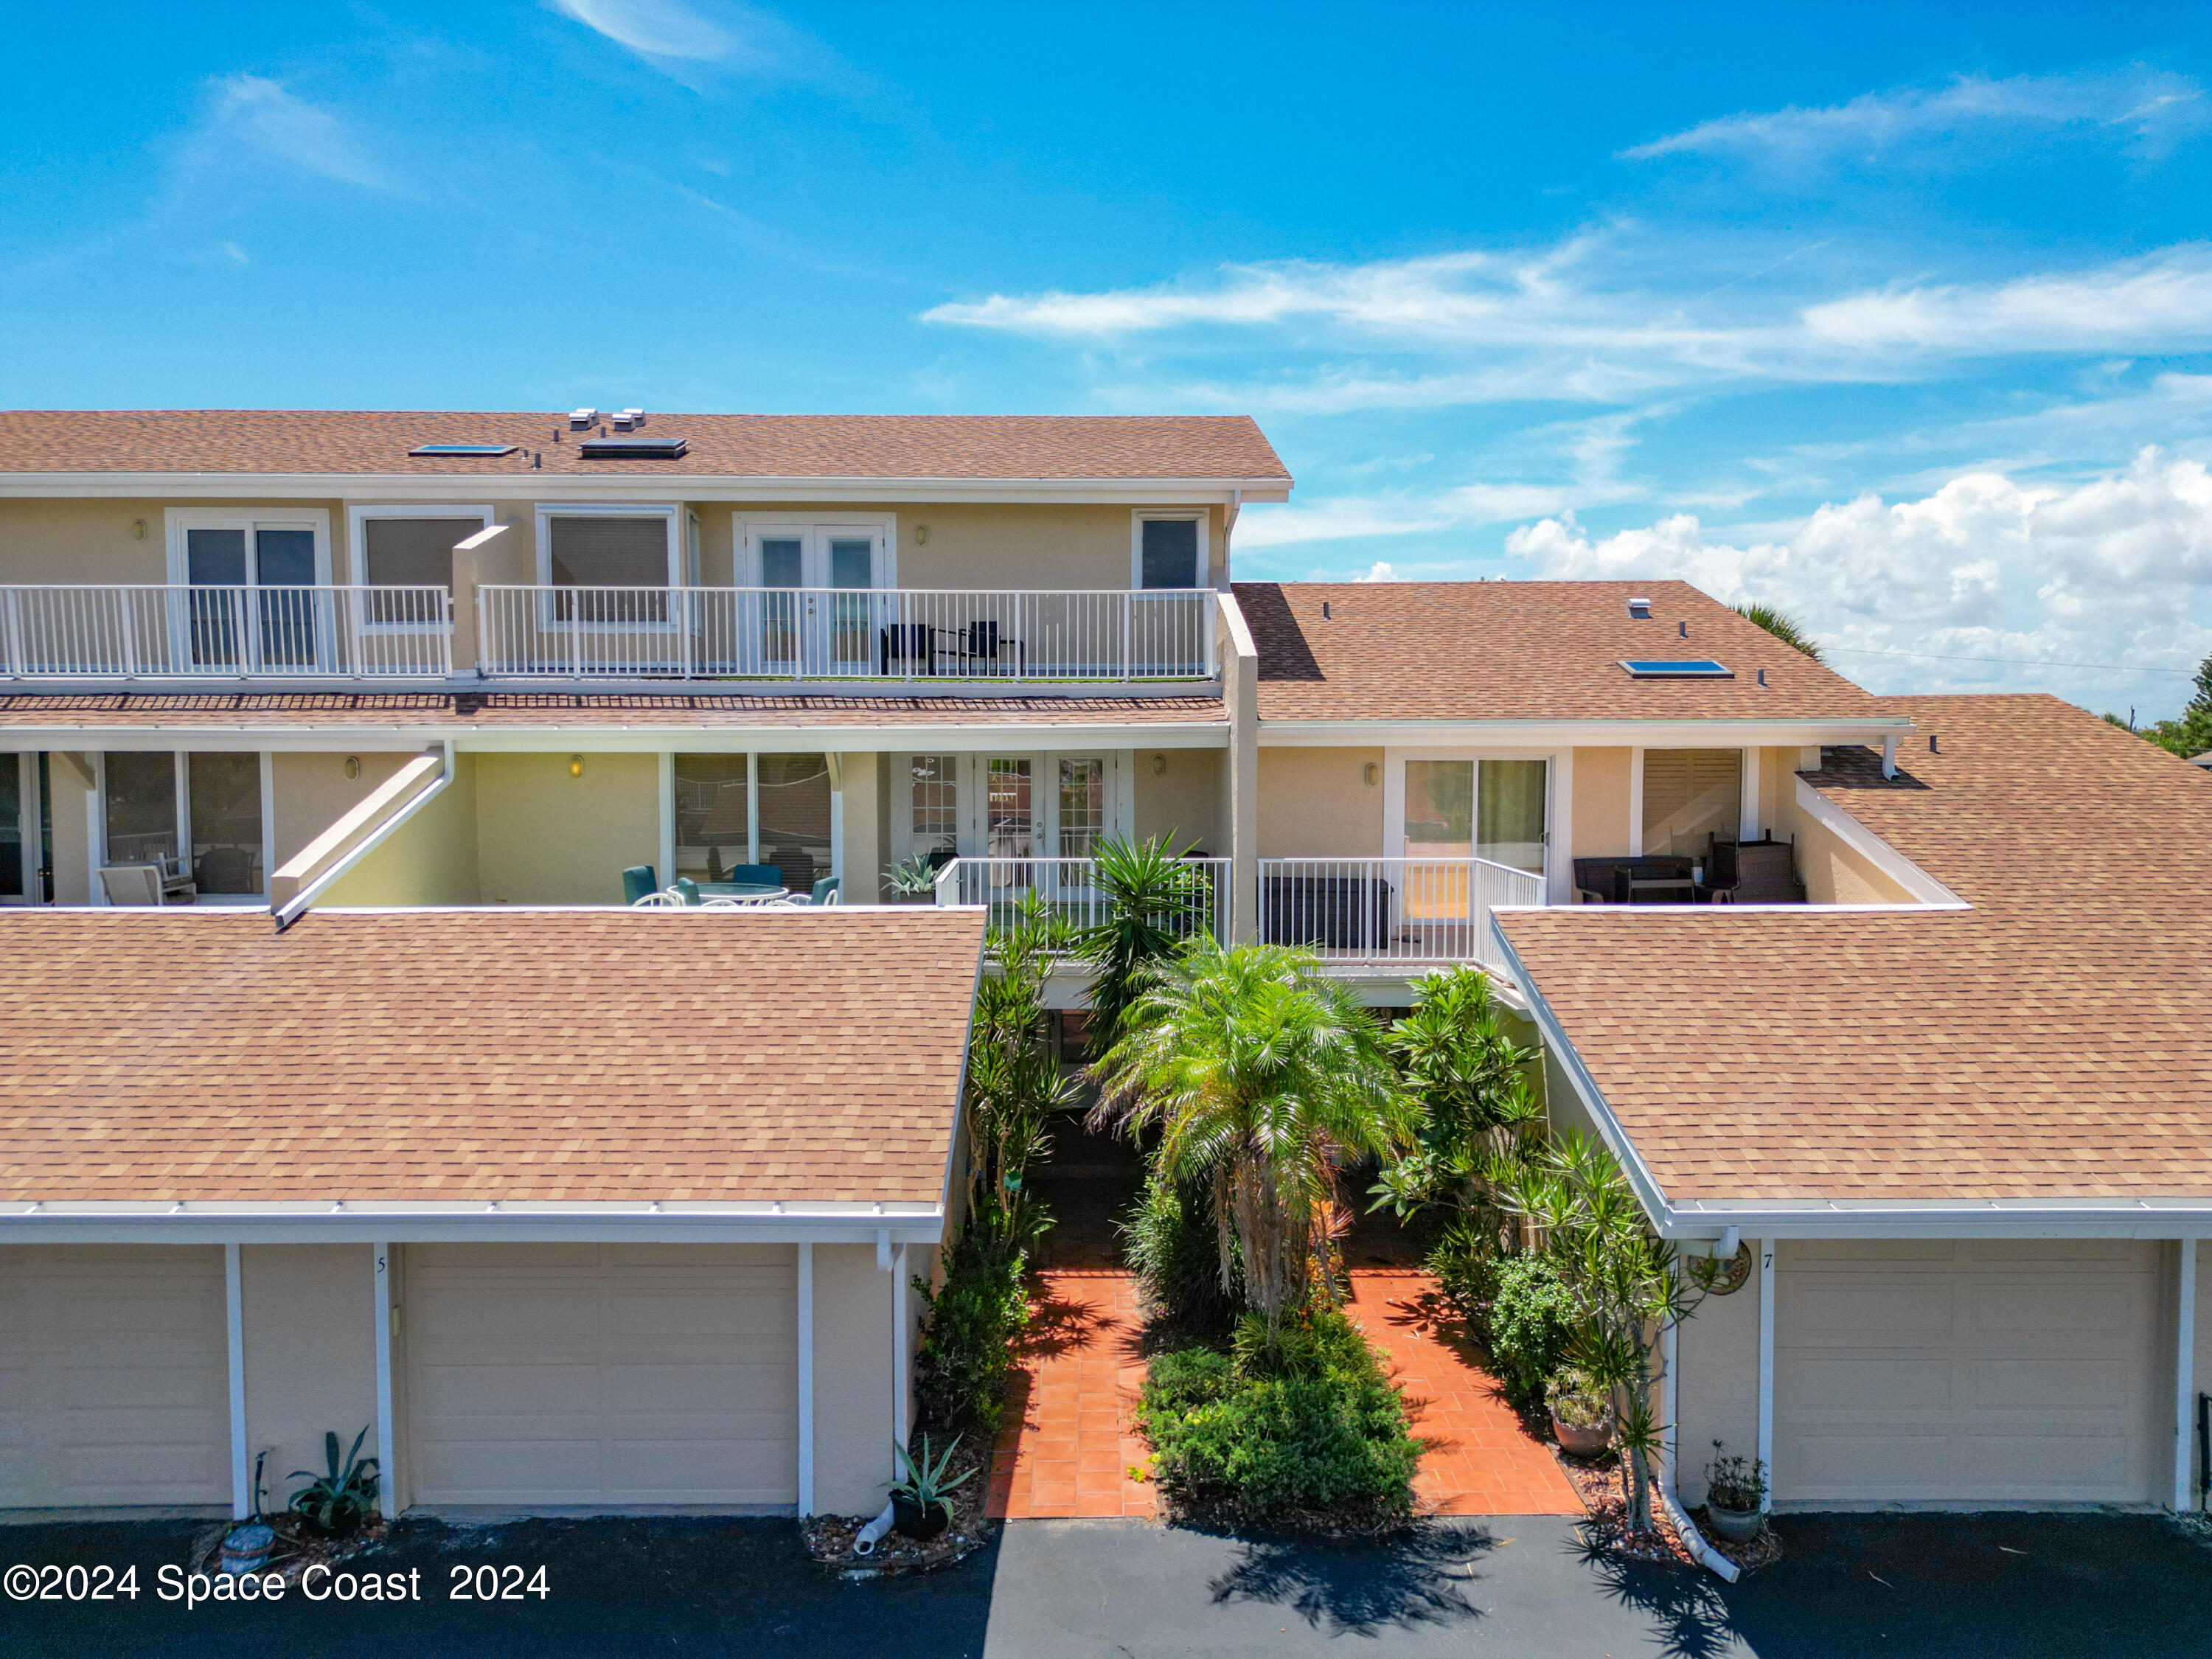
<svg viewBox="0 0 2212 1659">
<path fill-rule="evenodd" d="M 1672 575 L 1730 604 L 1765 599 L 1838 646 L 1847 672 L 1891 688 L 2051 688 L 2177 708 L 2188 686 L 2172 670 L 2212 650 L 2212 478 L 2157 449 L 2070 489 L 1966 473 L 1920 500 L 1832 502 L 1787 538 L 1747 544 L 1708 540 L 1690 513 L 1604 538 L 1559 515 L 1513 531 L 1506 555 L 1546 577 Z"/>
</svg>

